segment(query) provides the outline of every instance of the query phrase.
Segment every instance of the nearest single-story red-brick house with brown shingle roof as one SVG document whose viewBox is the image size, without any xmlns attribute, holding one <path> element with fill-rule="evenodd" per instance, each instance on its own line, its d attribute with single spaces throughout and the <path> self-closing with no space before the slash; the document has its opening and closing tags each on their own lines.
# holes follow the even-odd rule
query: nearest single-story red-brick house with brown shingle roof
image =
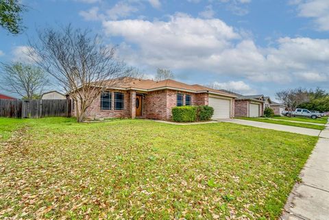
<svg viewBox="0 0 329 220">
<path fill-rule="evenodd" d="M 201 85 L 175 80 L 141 80 L 122 77 L 109 80 L 109 86 L 86 110 L 86 117 L 171 119 L 175 106 L 212 106 L 213 119 L 234 117 L 236 95 Z M 75 116 L 75 106 L 72 106 Z"/>
</svg>

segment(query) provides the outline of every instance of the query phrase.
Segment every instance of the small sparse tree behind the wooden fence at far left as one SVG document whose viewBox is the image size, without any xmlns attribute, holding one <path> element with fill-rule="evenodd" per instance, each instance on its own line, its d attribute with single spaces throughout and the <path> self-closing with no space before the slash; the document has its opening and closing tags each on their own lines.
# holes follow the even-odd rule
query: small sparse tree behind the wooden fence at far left
<svg viewBox="0 0 329 220">
<path fill-rule="evenodd" d="M 1 66 L 1 88 L 10 93 L 21 95 L 25 99 L 39 97 L 49 81 L 45 71 L 32 64 L 13 62 Z"/>
</svg>

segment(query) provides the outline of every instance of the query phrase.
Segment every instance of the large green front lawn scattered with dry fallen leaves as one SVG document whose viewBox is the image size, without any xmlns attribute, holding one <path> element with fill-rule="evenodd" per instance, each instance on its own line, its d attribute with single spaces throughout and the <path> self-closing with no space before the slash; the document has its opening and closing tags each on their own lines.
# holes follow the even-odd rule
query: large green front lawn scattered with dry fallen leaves
<svg viewBox="0 0 329 220">
<path fill-rule="evenodd" d="M 317 142 L 232 123 L 22 124 L 0 140 L 0 219 L 277 219 Z"/>
</svg>

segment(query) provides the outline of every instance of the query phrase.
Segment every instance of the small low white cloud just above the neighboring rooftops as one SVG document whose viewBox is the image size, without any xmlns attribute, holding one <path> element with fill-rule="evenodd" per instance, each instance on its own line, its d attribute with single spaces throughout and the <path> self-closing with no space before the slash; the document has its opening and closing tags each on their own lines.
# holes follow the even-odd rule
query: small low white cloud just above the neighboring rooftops
<svg viewBox="0 0 329 220">
<path fill-rule="evenodd" d="M 213 82 L 212 86 L 214 86 L 214 88 L 225 89 L 242 95 L 255 95 L 257 93 L 256 90 L 241 80 L 230 82 Z"/>
</svg>

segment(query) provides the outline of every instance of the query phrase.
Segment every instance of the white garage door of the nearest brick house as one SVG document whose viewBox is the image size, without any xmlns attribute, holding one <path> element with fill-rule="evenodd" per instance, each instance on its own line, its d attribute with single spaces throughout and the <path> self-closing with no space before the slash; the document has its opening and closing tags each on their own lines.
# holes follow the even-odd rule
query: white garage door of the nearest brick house
<svg viewBox="0 0 329 220">
<path fill-rule="evenodd" d="M 209 97 L 209 106 L 214 108 L 212 119 L 229 119 L 230 118 L 230 99 L 219 99 Z"/>
</svg>

